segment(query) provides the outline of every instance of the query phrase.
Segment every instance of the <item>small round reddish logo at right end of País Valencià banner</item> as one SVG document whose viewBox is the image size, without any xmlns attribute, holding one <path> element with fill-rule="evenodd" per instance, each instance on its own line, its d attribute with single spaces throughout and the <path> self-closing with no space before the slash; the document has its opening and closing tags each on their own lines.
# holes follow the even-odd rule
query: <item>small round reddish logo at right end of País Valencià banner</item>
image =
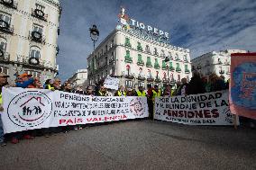
<svg viewBox="0 0 256 170">
<path fill-rule="evenodd" d="M 145 104 L 141 97 L 133 98 L 130 103 L 131 112 L 134 116 L 142 116 L 145 111 Z"/>
</svg>

